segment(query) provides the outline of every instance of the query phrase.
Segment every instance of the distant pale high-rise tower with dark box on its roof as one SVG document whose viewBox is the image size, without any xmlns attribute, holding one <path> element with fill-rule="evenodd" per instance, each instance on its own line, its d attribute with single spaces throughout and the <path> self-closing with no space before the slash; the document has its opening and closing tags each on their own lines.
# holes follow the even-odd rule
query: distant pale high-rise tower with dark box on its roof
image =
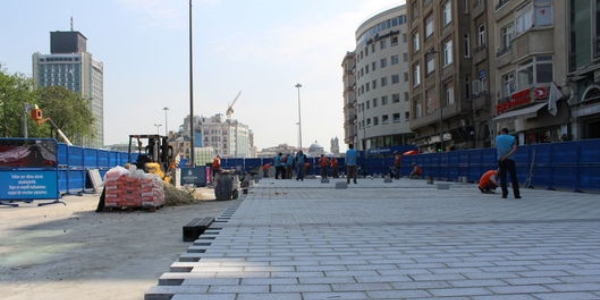
<svg viewBox="0 0 600 300">
<path fill-rule="evenodd" d="M 51 32 L 50 54 L 33 54 L 33 78 L 37 86 L 63 86 L 88 101 L 96 135 L 76 143 L 100 148 L 104 145 L 104 67 L 86 51 L 86 41 L 78 31 Z"/>
</svg>

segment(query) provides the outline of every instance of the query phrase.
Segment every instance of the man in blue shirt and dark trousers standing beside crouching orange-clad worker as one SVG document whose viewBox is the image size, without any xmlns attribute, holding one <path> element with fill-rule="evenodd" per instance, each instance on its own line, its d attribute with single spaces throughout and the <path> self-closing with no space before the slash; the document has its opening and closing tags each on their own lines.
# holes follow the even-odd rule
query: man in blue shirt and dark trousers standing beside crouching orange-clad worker
<svg viewBox="0 0 600 300">
<path fill-rule="evenodd" d="M 500 134 L 496 137 L 496 154 L 498 156 L 498 172 L 500 176 L 500 188 L 502 188 L 502 198 L 508 196 L 506 177 L 510 175 L 513 196 L 515 199 L 521 199 L 519 180 L 517 179 L 517 166 L 513 159 L 515 152 L 517 152 L 517 139 L 508 134 L 507 128 L 502 128 Z"/>
</svg>

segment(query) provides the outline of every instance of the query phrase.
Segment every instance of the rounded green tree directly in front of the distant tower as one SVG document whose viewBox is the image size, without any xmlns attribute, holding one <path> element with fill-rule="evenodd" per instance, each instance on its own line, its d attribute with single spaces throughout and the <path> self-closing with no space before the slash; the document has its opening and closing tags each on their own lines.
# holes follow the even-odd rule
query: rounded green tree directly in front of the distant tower
<svg viewBox="0 0 600 300">
<path fill-rule="evenodd" d="M 95 137 L 94 116 L 81 95 L 62 86 L 50 86 L 38 88 L 37 99 L 44 119 L 50 118 L 72 143 L 81 144 L 82 138 Z M 43 125 L 51 126 L 48 123 Z"/>
</svg>

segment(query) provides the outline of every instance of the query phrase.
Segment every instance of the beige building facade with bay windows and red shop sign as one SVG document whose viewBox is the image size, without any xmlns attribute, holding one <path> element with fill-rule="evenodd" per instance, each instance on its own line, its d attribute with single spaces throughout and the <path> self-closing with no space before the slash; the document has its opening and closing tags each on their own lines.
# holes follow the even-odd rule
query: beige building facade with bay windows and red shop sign
<svg viewBox="0 0 600 300">
<path fill-rule="evenodd" d="M 496 116 L 492 132 L 508 128 L 520 144 L 570 139 L 572 120 L 564 86 L 567 1 L 503 0 L 488 5 L 487 11 Z"/>
</svg>

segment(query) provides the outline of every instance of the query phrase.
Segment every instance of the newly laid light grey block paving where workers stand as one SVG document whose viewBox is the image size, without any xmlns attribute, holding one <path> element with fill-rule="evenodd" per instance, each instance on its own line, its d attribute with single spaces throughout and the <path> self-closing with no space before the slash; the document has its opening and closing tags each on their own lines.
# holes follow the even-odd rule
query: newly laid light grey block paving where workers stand
<svg viewBox="0 0 600 300">
<path fill-rule="evenodd" d="M 263 179 L 145 299 L 600 299 L 600 195 Z"/>
</svg>

